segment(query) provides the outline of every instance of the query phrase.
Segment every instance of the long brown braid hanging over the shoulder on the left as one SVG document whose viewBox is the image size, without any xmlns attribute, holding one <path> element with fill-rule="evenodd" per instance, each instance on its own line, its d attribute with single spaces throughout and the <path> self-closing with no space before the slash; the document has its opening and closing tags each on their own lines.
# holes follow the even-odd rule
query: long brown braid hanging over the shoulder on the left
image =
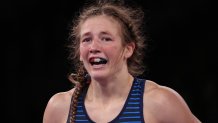
<svg viewBox="0 0 218 123">
<path fill-rule="evenodd" d="M 70 106 L 70 123 L 75 122 L 79 95 L 82 93 L 84 88 L 88 87 L 88 81 L 90 81 L 88 80 L 89 78 L 85 71 L 83 65 L 79 65 L 78 74 L 71 74 L 70 76 L 71 80 L 73 78 L 73 80 L 76 81 Z"/>
</svg>

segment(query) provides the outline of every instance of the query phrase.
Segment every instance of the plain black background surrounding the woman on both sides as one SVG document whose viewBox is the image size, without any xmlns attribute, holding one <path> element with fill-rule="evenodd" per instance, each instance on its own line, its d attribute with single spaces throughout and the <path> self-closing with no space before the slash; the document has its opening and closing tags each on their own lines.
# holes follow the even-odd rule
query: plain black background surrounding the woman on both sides
<svg viewBox="0 0 218 123">
<path fill-rule="evenodd" d="M 127 1 L 132 4 L 131 0 Z M 41 123 L 49 98 L 72 85 L 69 25 L 84 0 L 1 1 L 5 122 Z M 182 95 L 205 123 L 217 119 L 217 11 L 209 0 L 136 0 L 145 10 L 147 79 Z"/>
</svg>

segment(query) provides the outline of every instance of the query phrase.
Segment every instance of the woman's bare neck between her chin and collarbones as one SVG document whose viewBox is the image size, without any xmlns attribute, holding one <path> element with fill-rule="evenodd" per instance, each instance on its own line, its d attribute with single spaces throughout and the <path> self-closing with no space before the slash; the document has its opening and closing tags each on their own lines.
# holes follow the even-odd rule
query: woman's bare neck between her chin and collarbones
<svg viewBox="0 0 218 123">
<path fill-rule="evenodd" d="M 131 88 L 133 77 L 127 73 L 124 75 L 113 76 L 104 80 L 92 80 L 88 93 L 87 100 L 110 103 L 113 99 L 126 99 Z"/>
</svg>

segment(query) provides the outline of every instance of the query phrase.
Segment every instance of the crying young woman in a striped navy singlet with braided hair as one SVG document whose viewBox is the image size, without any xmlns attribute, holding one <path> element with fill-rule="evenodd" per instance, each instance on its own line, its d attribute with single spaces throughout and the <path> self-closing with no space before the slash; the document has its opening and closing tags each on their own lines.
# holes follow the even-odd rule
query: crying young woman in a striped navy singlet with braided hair
<svg viewBox="0 0 218 123">
<path fill-rule="evenodd" d="M 137 78 L 143 73 L 142 21 L 140 9 L 123 4 L 84 8 L 70 35 L 76 86 L 51 97 L 43 123 L 200 122 L 173 89 Z"/>
</svg>

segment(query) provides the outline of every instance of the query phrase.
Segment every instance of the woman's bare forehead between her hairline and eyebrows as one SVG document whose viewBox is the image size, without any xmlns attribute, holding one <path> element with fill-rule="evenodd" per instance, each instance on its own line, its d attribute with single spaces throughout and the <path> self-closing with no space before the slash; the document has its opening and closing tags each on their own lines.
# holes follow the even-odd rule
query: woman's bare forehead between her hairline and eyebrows
<svg viewBox="0 0 218 123">
<path fill-rule="evenodd" d="M 109 32 L 121 34 L 121 26 L 117 20 L 106 15 L 93 16 L 81 23 L 80 36 L 86 33 Z"/>
</svg>

